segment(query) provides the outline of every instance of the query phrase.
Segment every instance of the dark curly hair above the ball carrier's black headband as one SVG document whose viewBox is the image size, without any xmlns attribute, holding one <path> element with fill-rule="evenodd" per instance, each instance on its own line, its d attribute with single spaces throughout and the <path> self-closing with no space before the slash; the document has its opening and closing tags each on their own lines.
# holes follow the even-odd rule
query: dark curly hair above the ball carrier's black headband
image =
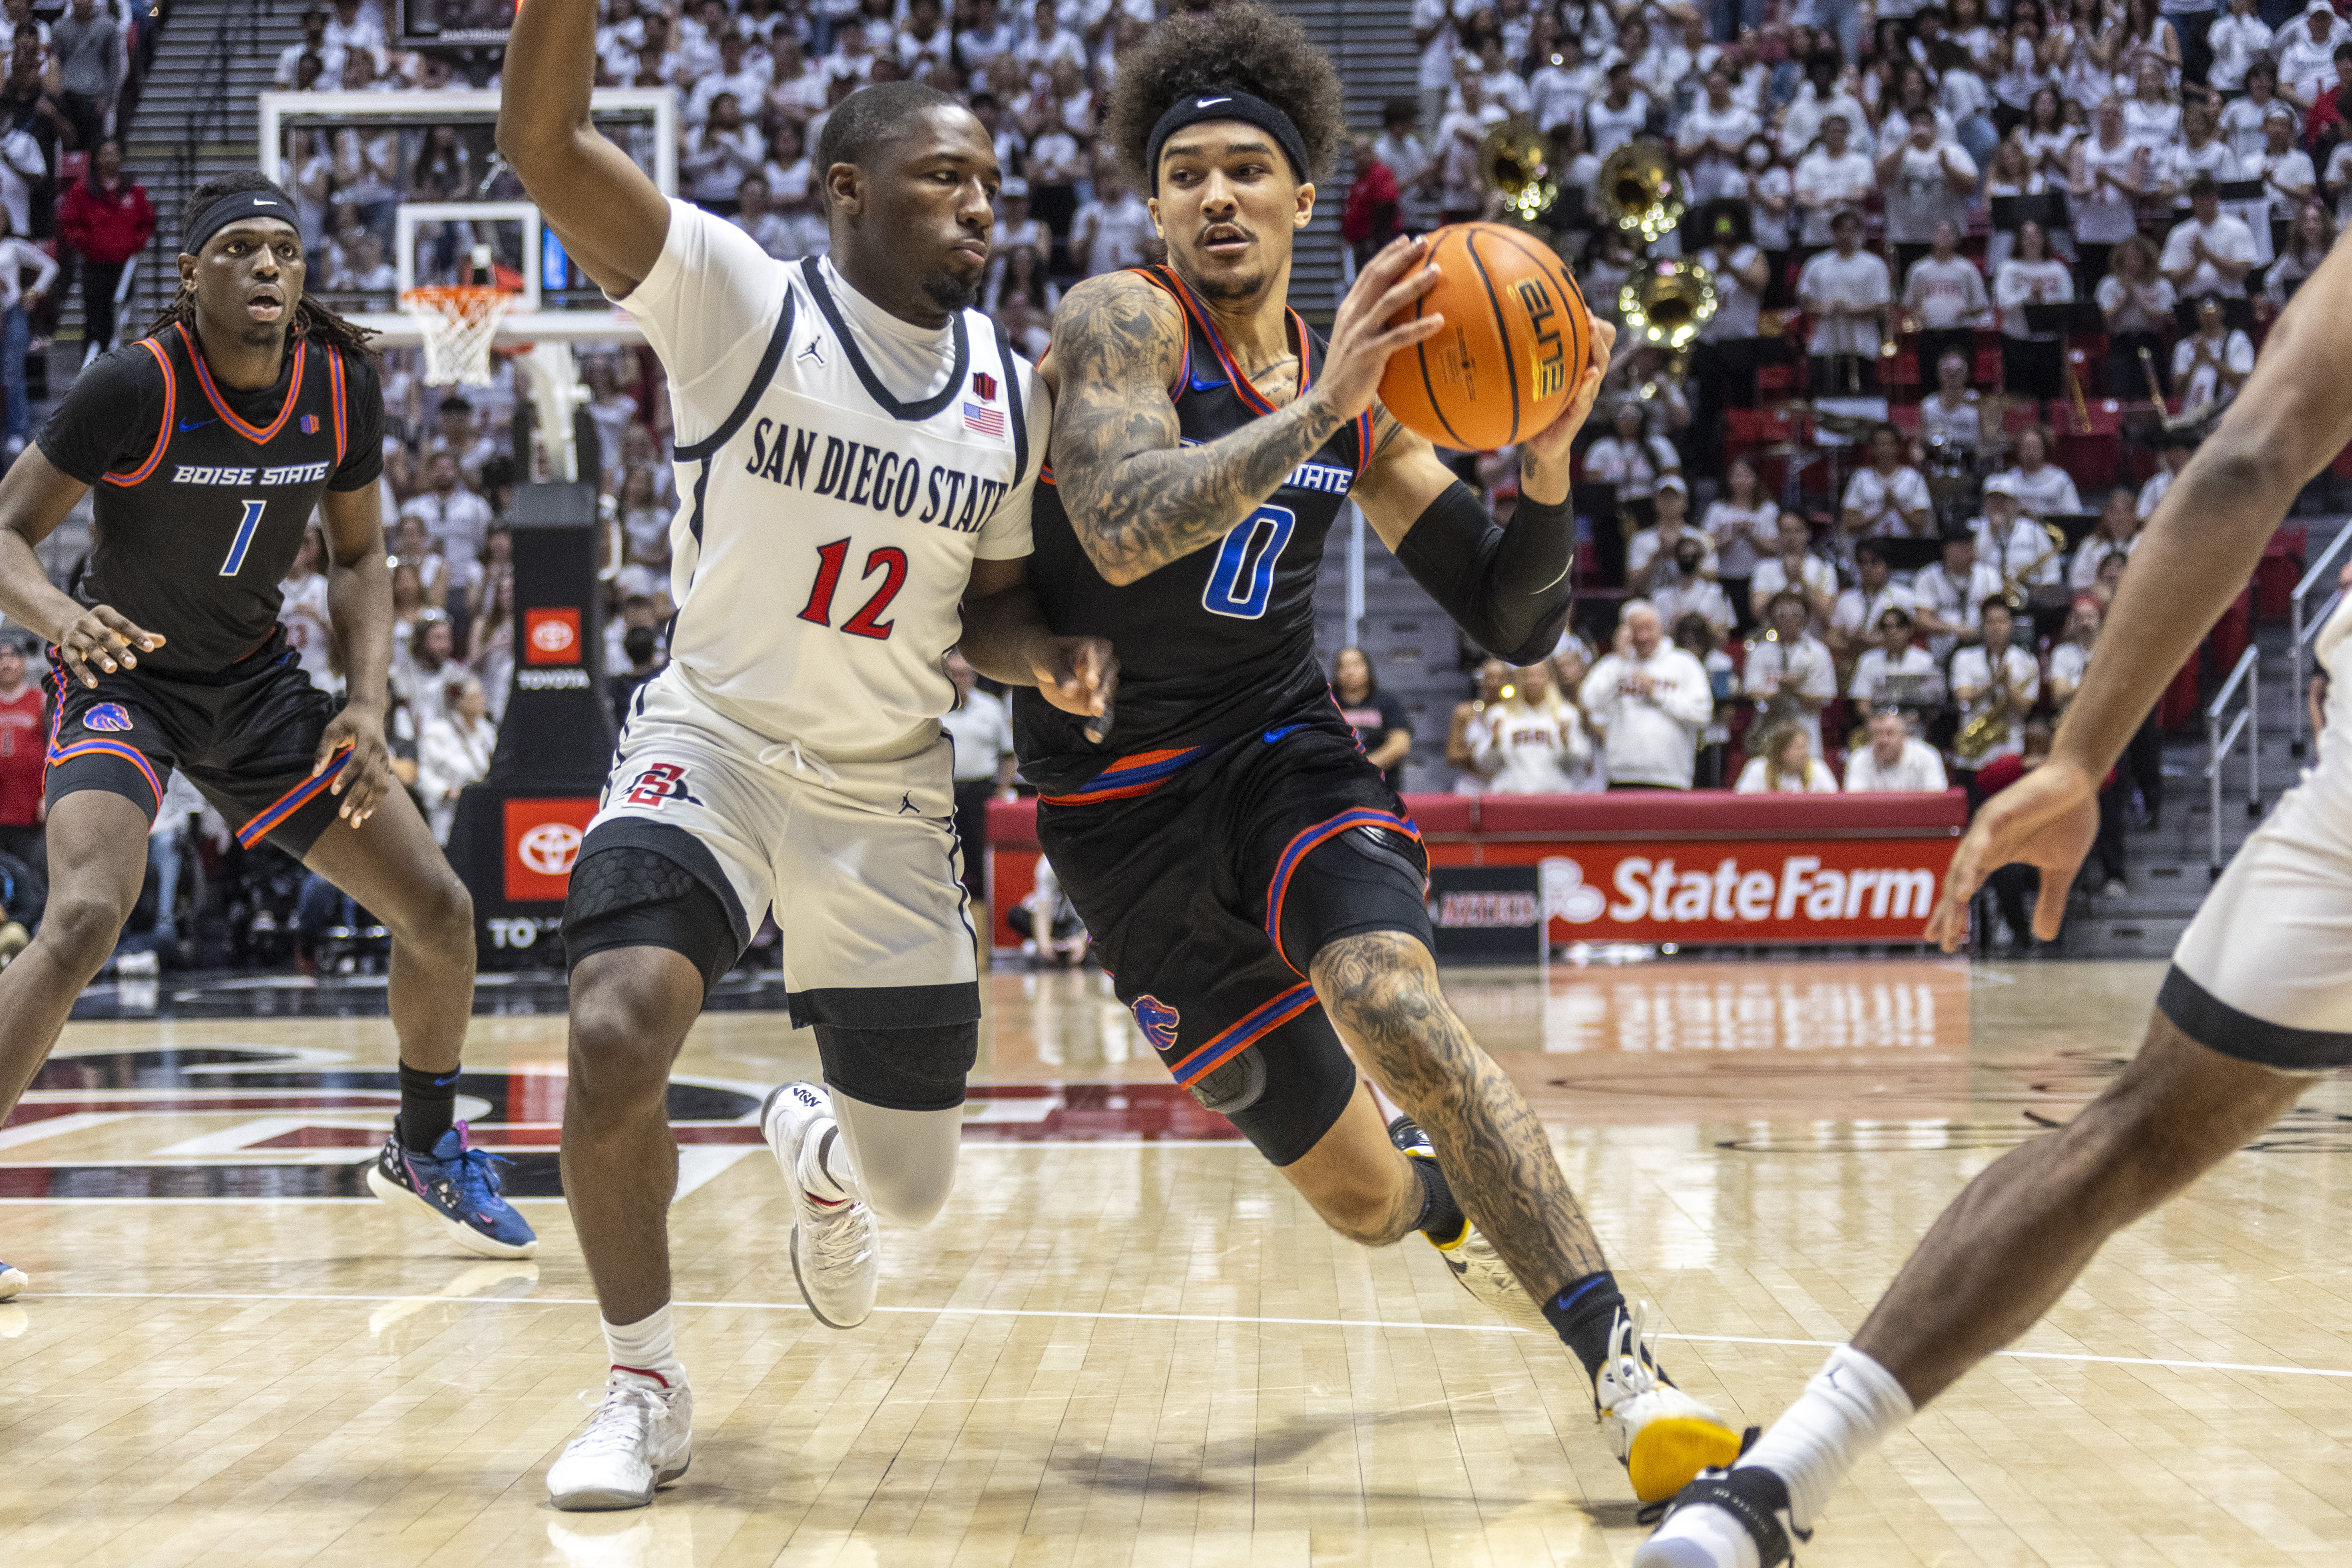
<svg viewBox="0 0 2352 1568">
<path fill-rule="evenodd" d="M 1145 190 L 1152 188 L 1145 153 L 1160 115 L 1176 99 L 1211 87 L 1240 87 L 1291 118 L 1308 146 L 1301 181 L 1322 179 L 1331 167 L 1345 125 L 1338 71 L 1296 19 L 1263 5 L 1225 5 L 1169 16 L 1120 61 L 1103 106 L 1103 136 Z"/>
</svg>

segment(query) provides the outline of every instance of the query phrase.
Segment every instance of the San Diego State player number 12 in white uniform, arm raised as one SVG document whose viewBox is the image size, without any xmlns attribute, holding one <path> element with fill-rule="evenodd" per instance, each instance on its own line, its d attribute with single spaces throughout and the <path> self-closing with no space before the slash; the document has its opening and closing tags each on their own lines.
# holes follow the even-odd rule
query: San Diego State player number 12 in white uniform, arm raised
<svg viewBox="0 0 2352 1568">
<path fill-rule="evenodd" d="M 548 1469 L 562 1509 L 642 1507 L 687 1469 L 670 1326 L 670 1063 L 769 907 L 826 1088 L 762 1131 L 795 1201 L 793 1269 L 866 1319 L 875 1218 L 948 1199 L 978 976 L 953 827 L 946 654 L 1108 715 L 1108 642 L 1051 637 L 1025 588 L 1049 397 L 969 310 L 995 226 L 988 132 L 894 82 L 816 148 L 830 261 L 771 261 L 666 202 L 588 122 L 595 0 L 534 0 L 499 148 L 670 374 L 684 508 L 670 665 L 630 705 L 564 903 L 564 1197 L 612 1373 Z"/>
</svg>

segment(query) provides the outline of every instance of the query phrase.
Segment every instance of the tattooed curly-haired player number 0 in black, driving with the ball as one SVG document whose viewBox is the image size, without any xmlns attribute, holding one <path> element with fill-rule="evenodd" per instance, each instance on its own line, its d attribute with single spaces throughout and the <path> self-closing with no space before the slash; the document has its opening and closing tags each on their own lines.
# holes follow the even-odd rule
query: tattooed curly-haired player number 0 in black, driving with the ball
<svg viewBox="0 0 2352 1568">
<path fill-rule="evenodd" d="M 1437 331 L 1383 329 L 1428 292 L 1425 244 L 1364 270 L 1329 346 L 1284 303 L 1338 127 L 1329 61 L 1256 5 L 1171 16 L 1120 59 L 1108 134 L 1145 176 L 1169 261 L 1089 277 L 1054 320 L 1056 484 L 1037 491 L 1030 567 L 1056 632 L 1110 637 L 1120 705 L 1091 745 L 1082 717 L 1016 691 L 1021 769 L 1044 795 L 1037 837 L 1176 1081 L 1341 1234 L 1421 1229 L 1489 1305 L 1534 1319 L 1541 1302 L 1637 1495 L 1665 1497 L 1729 1465 L 1738 1436 L 1656 1373 L 1543 1126 L 1446 1006 L 1421 837 L 1315 663 L 1315 571 L 1350 491 L 1475 642 L 1512 663 L 1552 651 L 1569 442 L 1602 369 L 1522 449 L 1498 529 L 1376 407 L 1390 353 Z M 1409 1117 L 1383 1128 L 1341 1039 Z"/>
</svg>

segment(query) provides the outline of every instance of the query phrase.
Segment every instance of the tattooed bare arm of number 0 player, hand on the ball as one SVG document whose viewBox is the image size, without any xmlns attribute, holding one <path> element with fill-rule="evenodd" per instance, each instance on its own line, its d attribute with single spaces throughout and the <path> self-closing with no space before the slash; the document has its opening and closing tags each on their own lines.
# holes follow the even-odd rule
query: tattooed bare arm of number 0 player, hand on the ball
<svg viewBox="0 0 2352 1568">
<path fill-rule="evenodd" d="M 1051 461 L 1094 569 L 1124 585 L 1216 543 L 1362 414 L 1388 355 L 1444 327 L 1439 315 L 1383 327 L 1435 282 L 1425 254 L 1399 240 L 1357 275 L 1305 397 L 1200 447 L 1178 447 L 1167 395 L 1185 331 L 1176 301 L 1131 273 L 1070 289 L 1054 315 Z"/>
</svg>

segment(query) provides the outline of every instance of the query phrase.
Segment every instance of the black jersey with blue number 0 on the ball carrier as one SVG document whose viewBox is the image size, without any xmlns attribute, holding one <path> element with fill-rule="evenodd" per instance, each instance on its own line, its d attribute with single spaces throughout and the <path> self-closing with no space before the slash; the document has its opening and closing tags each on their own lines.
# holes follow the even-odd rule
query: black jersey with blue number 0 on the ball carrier
<svg viewBox="0 0 2352 1568">
<path fill-rule="evenodd" d="M 1174 270 L 1136 268 L 1167 289 L 1185 322 L 1169 397 L 1188 447 L 1214 442 L 1275 407 L 1235 364 L 1216 322 Z M 1324 343 L 1291 310 L 1298 393 L 1322 371 Z M 1047 799 L 1134 795 L 1195 748 L 1265 729 L 1327 696 L 1315 663 L 1315 574 L 1341 501 L 1371 456 L 1371 414 L 1331 435 L 1216 545 L 1117 588 L 1094 569 L 1070 515 L 1040 475 L 1030 588 L 1061 637 L 1108 637 L 1120 654 L 1115 729 L 1089 745 L 1084 719 L 1035 689 L 1014 691 L 1021 773 Z"/>
</svg>

